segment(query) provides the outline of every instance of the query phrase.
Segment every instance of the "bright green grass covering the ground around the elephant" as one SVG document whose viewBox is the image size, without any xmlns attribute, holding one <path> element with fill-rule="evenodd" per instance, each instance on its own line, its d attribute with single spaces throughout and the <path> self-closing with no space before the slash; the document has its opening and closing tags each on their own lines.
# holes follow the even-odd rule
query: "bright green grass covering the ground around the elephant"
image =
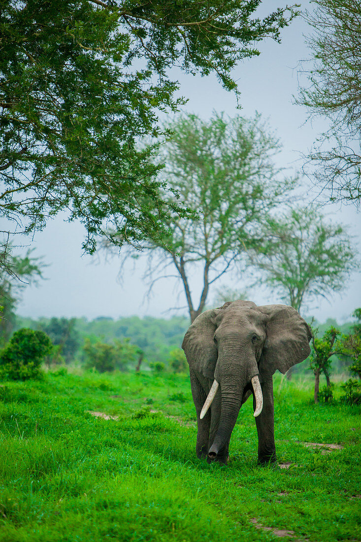
<svg viewBox="0 0 361 542">
<path fill-rule="evenodd" d="M 94 417 L 89 411 L 117 416 Z M 0 541 L 361 540 L 360 407 L 275 378 L 279 462 L 256 466 L 252 404 L 228 467 L 195 457 L 189 379 L 48 373 L 0 386 Z M 342 444 L 323 455 L 302 442 Z"/>
</svg>

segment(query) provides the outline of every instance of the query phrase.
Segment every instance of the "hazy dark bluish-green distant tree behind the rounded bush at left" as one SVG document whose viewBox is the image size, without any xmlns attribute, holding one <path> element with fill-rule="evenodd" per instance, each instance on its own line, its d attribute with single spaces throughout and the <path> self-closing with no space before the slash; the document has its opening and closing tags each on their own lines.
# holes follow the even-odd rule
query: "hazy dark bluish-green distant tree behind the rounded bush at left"
<svg viewBox="0 0 361 542">
<path fill-rule="evenodd" d="M 80 346 L 80 335 L 75 328 L 75 318 L 51 318 L 50 321 L 40 321 L 38 327 L 49 335 L 54 346 L 59 346 L 57 356 L 63 356 L 66 363 L 74 359 L 74 354 Z"/>
</svg>

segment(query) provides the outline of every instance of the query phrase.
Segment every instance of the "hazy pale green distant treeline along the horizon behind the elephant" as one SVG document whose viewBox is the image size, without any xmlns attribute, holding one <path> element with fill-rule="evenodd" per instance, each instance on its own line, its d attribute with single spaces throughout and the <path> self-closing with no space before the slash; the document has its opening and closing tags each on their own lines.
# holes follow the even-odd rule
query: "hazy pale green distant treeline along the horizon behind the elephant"
<svg viewBox="0 0 361 542">
<path fill-rule="evenodd" d="M 308 319 L 311 322 L 311 319 Z M 62 345 L 62 356 L 66 363 L 82 362 L 82 349 L 85 339 L 92 344 L 98 341 L 112 344 L 114 340 L 129 339 L 130 343 L 144 352 L 145 365 L 161 362 L 169 363 L 170 352 L 182 345 L 184 333 L 189 327 L 186 317 L 172 317 L 169 319 L 132 316 L 114 320 L 108 317 L 99 317 L 88 321 L 86 318 L 41 318 L 38 320 L 16 317 L 16 327 L 30 327 L 34 330 L 47 332 L 54 344 Z M 328 318 L 326 322 L 313 322 L 313 327 L 319 328 L 322 335 L 330 326 L 337 327 L 342 333 L 350 331 L 352 322 L 338 325 L 337 321 Z M 302 371 L 306 362 L 295 370 Z M 346 360 L 339 359 L 334 362 L 334 370 L 344 370 Z M 305 367 L 306 370 L 306 367 Z"/>
</svg>

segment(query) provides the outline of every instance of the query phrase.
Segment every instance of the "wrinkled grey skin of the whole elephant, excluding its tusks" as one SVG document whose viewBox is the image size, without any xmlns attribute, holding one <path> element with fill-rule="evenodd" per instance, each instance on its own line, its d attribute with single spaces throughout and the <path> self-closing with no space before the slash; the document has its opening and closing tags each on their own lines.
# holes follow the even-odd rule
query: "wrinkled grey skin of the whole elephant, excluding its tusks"
<svg viewBox="0 0 361 542">
<path fill-rule="evenodd" d="M 272 375 L 276 369 L 285 373 L 306 359 L 310 339 L 305 320 L 286 305 L 258 307 L 252 301 L 233 301 L 195 319 L 182 348 L 189 363 L 197 412 L 197 457 L 228 462 L 238 412 L 253 394 L 251 379 L 259 375 L 263 409 L 255 418 L 258 462 L 276 461 Z M 220 388 L 201 420 L 199 415 L 214 379 Z"/>
</svg>

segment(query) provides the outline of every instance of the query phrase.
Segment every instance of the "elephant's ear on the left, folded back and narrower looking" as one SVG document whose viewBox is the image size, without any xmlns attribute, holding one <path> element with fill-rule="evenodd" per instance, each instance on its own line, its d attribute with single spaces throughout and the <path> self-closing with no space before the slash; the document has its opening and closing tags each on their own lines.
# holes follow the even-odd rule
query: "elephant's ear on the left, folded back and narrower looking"
<svg viewBox="0 0 361 542">
<path fill-rule="evenodd" d="M 218 350 L 214 342 L 217 315 L 222 309 L 205 311 L 195 319 L 184 335 L 182 348 L 189 366 L 207 378 L 214 378 Z"/>
</svg>

